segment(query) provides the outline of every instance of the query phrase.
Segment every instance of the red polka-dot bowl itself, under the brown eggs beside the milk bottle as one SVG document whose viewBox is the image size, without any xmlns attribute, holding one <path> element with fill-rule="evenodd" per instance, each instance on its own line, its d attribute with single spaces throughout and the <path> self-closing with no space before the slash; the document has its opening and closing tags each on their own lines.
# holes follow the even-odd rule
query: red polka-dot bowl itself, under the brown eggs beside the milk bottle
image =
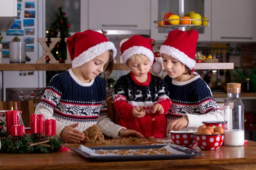
<svg viewBox="0 0 256 170">
<path fill-rule="evenodd" d="M 223 144 L 224 134 L 202 135 L 195 134 L 195 143 L 201 150 L 217 150 Z"/>
</svg>

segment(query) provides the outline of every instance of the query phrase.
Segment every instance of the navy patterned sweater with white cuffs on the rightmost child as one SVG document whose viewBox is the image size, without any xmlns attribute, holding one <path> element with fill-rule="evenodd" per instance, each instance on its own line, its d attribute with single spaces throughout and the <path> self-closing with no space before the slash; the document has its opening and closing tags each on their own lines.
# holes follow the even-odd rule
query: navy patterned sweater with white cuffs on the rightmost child
<svg viewBox="0 0 256 170">
<path fill-rule="evenodd" d="M 223 111 L 212 97 L 208 85 L 198 74 L 186 82 L 177 82 L 168 75 L 164 78 L 167 83 L 171 108 L 166 115 L 167 125 L 174 119 L 186 115 L 189 119 L 187 129 L 202 125 L 203 121 L 223 120 Z"/>
</svg>

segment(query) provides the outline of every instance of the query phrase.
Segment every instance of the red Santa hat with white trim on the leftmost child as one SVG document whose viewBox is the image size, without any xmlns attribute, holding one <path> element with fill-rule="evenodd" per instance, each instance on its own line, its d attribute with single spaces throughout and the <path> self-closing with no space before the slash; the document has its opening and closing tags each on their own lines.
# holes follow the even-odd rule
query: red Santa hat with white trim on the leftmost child
<svg viewBox="0 0 256 170">
<path fill-rule="evenodd" d="M 93 30 L 77 32 L 67 39 L 67 48 L 72 60 L 72 68 L 77 68 L 84 63 L 103 54 L 105 51 L 112 50 L 113 57 L 116 56 L 115 45 L 102 34 Z"/>
</svg>

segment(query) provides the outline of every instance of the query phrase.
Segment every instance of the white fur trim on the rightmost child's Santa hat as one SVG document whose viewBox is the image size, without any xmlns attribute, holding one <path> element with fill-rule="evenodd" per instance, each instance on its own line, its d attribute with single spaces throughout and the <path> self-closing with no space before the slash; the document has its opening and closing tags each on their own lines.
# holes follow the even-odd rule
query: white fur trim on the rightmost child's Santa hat
<svg viewBox="0 0 256 170">
<path fill-rule="evenodd" d="M 185 53 L 178 50 L 177 48 L 171 47 L 169 45 L 161 45 L 160 47 L 160 55 L 166 54 L 172 56 L 173 58 L 179 60 L 184 65 L 186 65 L 190 70 L 195 67 L 195 60 L 189 58 Z"/>
</svg>

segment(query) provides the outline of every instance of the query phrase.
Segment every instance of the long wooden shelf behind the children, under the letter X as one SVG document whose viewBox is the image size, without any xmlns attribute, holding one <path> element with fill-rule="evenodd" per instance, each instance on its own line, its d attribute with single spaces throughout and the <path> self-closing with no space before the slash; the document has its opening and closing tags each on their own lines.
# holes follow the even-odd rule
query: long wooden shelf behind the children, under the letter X
<svg viewBox="0 0 256 170">
<path fill-rule="evenodd" d="M 0 71 L 66 71 L 72 64 L 0 64 Z M 196 63 L 195 70 L 234 69 L 234 63 Z M 129 70 L 122 63 L 115 63 L 114 70 Z M 164 70 L 164 68 L 163 68 Z"/>
</svg>

